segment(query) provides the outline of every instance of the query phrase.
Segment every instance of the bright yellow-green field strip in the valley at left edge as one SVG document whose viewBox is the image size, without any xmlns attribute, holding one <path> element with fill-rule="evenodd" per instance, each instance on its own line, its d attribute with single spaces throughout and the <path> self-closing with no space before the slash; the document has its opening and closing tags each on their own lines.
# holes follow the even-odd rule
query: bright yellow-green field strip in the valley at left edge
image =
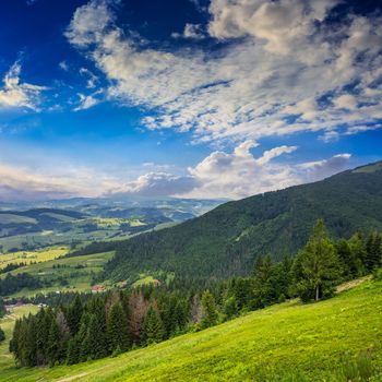
<svg viewBox="0 0 382 382">
<path fill-rule="evenodd" d="M 52 247 L 40 251 L 20 251 L 14 253 L 0 254 L 0 270 L 8 264 L 20 263 L 43 263 L 49 260 L 55 260 L 69 252 L 69 247 Z"/>
</svg>

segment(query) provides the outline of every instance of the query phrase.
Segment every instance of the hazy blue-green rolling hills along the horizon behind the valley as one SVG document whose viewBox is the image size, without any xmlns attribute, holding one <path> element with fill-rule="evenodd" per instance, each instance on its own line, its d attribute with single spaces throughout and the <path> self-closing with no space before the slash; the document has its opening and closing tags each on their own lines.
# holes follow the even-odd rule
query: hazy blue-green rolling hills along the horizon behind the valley
<svg viewBox="0 0 382 382">
<path fill-rule="evenodd" d="M 0 203 L 0 252 L 123 239 L 202 215 L 223 201 L 89 199 Z"/>
</svg>

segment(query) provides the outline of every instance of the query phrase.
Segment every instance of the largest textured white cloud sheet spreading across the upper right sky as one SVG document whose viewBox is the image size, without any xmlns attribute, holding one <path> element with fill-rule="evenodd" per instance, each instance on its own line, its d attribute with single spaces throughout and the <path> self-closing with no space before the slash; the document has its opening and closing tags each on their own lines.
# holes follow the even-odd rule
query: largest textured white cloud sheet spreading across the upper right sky
<svg viewBox="0 0 382 382">
<path fill-rule="evenodd" d="M 210 34 L 230 44 L 206 53 L 147 48 L 116 26 L 111 3 L 80 7 L 67 36 L 106 74 L 110 98 L 146 107 L 142 122 L 151 129 L 243 141 L 333 135 L 381 118 L 382 17 L 329 25 L 336 0 L 213 0 Z M 344 98 L 349 84 L 355 93 Z M 333 103 L 323 103 L 329 94 Z"/>
</svg>

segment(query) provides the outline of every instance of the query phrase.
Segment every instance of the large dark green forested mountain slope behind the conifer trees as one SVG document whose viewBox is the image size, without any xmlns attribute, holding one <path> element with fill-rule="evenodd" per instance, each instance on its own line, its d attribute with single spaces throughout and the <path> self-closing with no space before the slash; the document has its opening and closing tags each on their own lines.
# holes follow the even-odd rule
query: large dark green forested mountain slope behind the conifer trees
<svg viewBox="0 0 382 382">
<path fill-rule="evenodd" d="M 225 203 L 178 226 L 121 242 L 105 278 L 172 273 L 200 279 L 248 275 L 256 254 L 279 260 L 323 218 L 333 238 L 382 230 L 382 162 L 314 183 Z"/>
</svg>

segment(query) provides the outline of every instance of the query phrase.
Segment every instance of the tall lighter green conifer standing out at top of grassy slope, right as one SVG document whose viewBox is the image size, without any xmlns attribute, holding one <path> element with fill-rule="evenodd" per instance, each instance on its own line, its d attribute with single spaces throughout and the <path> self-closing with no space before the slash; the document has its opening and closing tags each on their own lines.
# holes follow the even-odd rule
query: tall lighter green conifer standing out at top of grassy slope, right
<svg viewBox="0 0 382 382">
<path fill-rule="evenodd" d="M 323 220 L 319 220 L 307 246 L 297 254 L 294 273 L 302 300 L 327 297 L 341 275 L 337 253 L 327 238 Z"/>
</svg>

